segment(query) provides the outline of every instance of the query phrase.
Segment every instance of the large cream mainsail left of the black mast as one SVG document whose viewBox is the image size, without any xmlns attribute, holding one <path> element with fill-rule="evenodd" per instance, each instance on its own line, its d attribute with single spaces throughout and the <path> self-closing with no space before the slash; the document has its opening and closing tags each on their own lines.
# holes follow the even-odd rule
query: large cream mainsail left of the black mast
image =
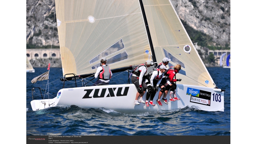
<svg viewBox="0 0 257 144">
<path fill-rule="evenodd" d="M 55 4 L 63 75 L 92 75 L 103 56 L 112 72 L 152 60 L 138 0 Z"/>
</svg>

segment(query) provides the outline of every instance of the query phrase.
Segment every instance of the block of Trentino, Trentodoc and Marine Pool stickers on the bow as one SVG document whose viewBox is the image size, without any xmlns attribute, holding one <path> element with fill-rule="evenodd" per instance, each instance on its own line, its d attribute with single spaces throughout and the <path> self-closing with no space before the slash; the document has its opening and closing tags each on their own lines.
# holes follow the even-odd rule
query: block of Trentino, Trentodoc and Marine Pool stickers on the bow
<svg viewBox="0 0 257 144">
<path fill-rule="evenodd" d="M 187 95 L 191 95 L 190 102 L 210 106 L 211 92 L 188 87 Z"/>
</svg>

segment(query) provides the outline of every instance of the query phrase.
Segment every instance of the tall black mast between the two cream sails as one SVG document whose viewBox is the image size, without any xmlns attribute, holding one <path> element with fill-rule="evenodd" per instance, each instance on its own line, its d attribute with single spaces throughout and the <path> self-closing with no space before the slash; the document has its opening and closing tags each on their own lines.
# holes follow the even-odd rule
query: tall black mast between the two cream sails
<svg viewBox="0 0 257 144">
<path fill-rule="evenodd" d="M 152 52 L 152 58 L 153 58 L 153 61 L 154 61 L 154 66 L 157 67 L 158 64 L 157 64 L 157 61 L 156 61 L 156 58 L 155 58 L 154 46 L 153 46 L 151 34 L 150 34 L 150 31 L 149 31 L 149 27 L 148 27 L 146 15 L 145 15 L 144 5 L 143 5 L 142 0 L 139 0 L 139 3 L 140 3 L 140 6 L 141 6 L 143 18 L 144 18 L 144 21 L 145 21 L 145 28 L 146 28 L 146 32 L 147 32 L 147 36 L 148 36 L 148 40 L 149 40 L 149 44 L 150 44 L 150 49 L 151 49 L 151 52 Z"/>
</svg>

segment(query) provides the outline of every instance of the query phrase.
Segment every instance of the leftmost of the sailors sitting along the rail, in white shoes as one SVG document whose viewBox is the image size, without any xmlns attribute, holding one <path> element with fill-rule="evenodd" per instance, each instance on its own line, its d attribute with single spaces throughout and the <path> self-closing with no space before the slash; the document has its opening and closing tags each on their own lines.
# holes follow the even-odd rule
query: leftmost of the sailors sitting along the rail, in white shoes
<svg viewBox="0 0 257 144">
<path fill-rule="evenodd" d="M 134 101 L 134 105 L 139 105 L 139 102 L 145 103 L 142 99 L 147 86 L 145 84 L 145 78 L 143 77 L 145 74 L 147 74 L 147 68 L 153 65 L 150 60 L 147 60 L 145 64 L 140 64 L 135 70 L 133 70 L 133 74 L 131 76 L 131 81 L 132 83 L 136 86 L 137 89 L 137 94 L 136 94 L 136 99 Z M 142 88 L 143 87 L 143 88 Z M 140 95 L 140 98 L 138 99 Z"/>
</svg>

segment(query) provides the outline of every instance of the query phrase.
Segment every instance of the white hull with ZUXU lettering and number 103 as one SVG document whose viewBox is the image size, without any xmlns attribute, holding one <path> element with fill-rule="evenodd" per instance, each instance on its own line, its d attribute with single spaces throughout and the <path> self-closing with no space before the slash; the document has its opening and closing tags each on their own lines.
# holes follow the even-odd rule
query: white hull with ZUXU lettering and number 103
<svg viewBox="0 0 257 144">
<path fill-rule="evenodd" d="M 208 94 L 204 94 L 207 95 L 205 98 L 199 95 L 197 97 L 188 95 L 188 90 L 193 95 L 199 92 Z M 185 108 L 186 106 L 196 106 L 195 108 L 204 111 L 224 111 L 224 93 L 220 92 L 220 89 L 177 84 L 177 97 L 181 100 L 168 102 L 168 105 L 161 101 L 163 106 L 159 106 L 156 102 L 159 93 L 158 91 L 153 99 L 155 106 L 150 105 L 149 107 L 146 107 L 143 103 L 140 103 L 140 105 L 133 104 L 136 93 L 137 90 L 134 84 L 66 88 L 59 90 L 57 97 L 52 99 L 52 103 L 55 102 L 55 105 L 63 106 L 76 105 L 81 108 L 103 107 L 106 109 L 115 110 L 117 112 L 166 111 L 177 108 Z M 162 97 L 163 95 L 161 98 Z M 169 93 L 167 98 L 169 99 Z M 146 93 L 143 96 L 143 100 L 146 100 Z M 41 108 L 43 108 L 43 106 L 41 106 Z"/>
</svg>

